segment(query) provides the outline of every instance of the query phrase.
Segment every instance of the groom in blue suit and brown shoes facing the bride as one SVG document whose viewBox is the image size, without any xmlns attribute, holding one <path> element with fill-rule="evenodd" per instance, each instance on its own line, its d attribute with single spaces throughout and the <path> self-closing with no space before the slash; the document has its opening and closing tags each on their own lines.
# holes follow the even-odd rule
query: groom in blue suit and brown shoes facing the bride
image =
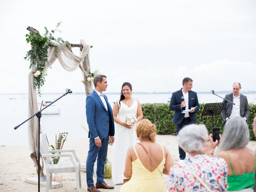
<svg viewBox="0 0 256 192">
<path fill-rule="evenodd" d="M 108 83 L 104 75 L 94 76 L 94 91 L 86 97 L 86 118 L 89 126 L 90 145 L 86 161 L 87 190 L 100 192 L 98 188 L 114 189 L 104 182 L 104 165 L 108 152 L 108 136 L 110 143 L 114 143 L 114 119 L 108 98 L 102 94 L 106 91 Z M 97 158 L 98 157 L 98 158 Z M 96 187 L 93 181 L 94 163 L 97 158 Z"/>
</svg>

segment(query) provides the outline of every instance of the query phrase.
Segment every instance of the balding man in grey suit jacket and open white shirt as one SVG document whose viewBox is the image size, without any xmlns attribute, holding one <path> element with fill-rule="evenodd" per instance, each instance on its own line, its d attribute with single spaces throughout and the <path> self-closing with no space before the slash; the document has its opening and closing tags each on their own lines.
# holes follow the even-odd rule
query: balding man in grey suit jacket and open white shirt
<svg viewBox="0 0 256 192">
<path fill-rule="evenodd" d="M 238 82 L 235 82 L 233 84 L 233 93 L 227 94 L 225 96 L 225 99 L 235 103 L 234 105 L 230 102 L 226 103 L 226 112 L 225 112 L 225 107 L 222 109 L 221 115 L 223 118 L 223 123 L 225 120 L 228 120 L 229 118 L 233 116 L 241 116 L 244 118 L 244 120 L 247 121 L 249 114 L 250 114 L 250 109 L 249 109 L 249 104 L 247 97 L 243 94 L 240 94 L 241 90 L 241 84 Z M 223 100 L 224 102 L 225 100 Z"/>
</svg>

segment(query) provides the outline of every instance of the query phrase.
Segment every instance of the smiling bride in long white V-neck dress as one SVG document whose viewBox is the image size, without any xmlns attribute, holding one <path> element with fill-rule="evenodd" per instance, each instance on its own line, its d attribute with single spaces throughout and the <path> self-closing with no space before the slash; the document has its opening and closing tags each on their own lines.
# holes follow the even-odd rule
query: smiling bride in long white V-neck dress
<svg viewBox="0 0 256 192">
<path fill-rule="evenodd" d="M 132 85 L 124 82 L 120 100 L 116 101 L 113 107 L 115 121 L 115 142 L 112 148 L 112 181 L 113 184 L 122 184 L 124 180 L 124 165 L 127 150 L 138 142 L 135 126 L 128 126 L 125 117 L 128 114 L 135 114 L 137 120 L 143 118 L 142 108 L 138 100 L 131 97 Z"/>
</svg>

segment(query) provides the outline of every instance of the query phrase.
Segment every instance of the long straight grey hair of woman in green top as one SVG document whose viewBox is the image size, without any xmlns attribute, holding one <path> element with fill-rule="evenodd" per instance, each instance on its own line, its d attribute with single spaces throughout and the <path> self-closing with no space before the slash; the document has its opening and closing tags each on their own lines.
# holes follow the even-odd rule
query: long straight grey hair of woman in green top
<svg viewBox="0 0 256 192">
<path fill-rule="evenodd" d="M 218 151 L 243 148 L 249 139 L 249 128 L 244 118 L 232 117 L 226 122 Z"/>
</svg>

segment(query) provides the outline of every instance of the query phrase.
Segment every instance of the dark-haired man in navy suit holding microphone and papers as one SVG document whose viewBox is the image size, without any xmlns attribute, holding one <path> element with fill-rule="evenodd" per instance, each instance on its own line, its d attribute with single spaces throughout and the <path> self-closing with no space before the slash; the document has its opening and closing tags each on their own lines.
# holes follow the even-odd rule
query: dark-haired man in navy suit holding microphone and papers
<svg viewBox="0 0 256 192">
<path fill-rule="evenodd" d="M 199 103 L 196 92 L 192 91 L 193 80 L 186 77 L 182 80 L 182 89 L 172 93 L 170 110 L 174 110 L 172 122 L 176 124 L 176 131 L 183 126 L 196 123 L 196 112 L 199 110 Z M 191 109 L 189 112 L 182 113 L 183 110 Z M 186 158 L 186 152 L 179 147 L 180 159 Z"/>
</svg>

